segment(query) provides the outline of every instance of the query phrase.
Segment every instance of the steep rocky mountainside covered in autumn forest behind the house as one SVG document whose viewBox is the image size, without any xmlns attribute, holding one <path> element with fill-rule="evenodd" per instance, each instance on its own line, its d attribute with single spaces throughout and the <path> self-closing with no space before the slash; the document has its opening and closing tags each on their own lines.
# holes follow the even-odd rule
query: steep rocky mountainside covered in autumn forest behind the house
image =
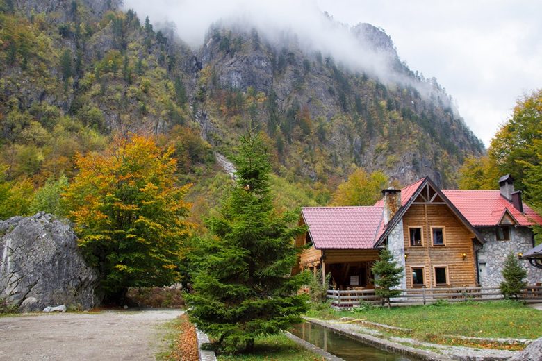
<svg viewBox="0 0 542 361">
<path fill-rule="evenodd" d="M 271 41 L 243 26 L 215 24 L 191 49 L 117 0 L 0 0 L 0 185 L 10 189 L 0 216 L 28 213 L 35 189 L 71 179 L 75 154 L 100 152 L 117 133 L 174 146 L 197 214 L 228 179 L 213 151 L 231 156 L 247 128 L 274 149 L 285 208 L 327 203 L 356 166 L 454 185 L 482 143 L 388 35 L 368 24 L 352 31 L 406 80 L 379 81 L 295 36 Z"/>
</svg>

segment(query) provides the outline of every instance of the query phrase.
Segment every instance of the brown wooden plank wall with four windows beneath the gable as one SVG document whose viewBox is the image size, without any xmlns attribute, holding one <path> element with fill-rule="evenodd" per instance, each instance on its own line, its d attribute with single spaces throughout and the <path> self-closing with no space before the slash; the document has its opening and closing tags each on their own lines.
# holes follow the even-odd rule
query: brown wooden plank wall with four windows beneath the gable
<svg viewBox="0 0 542 361">
<path fill-rule="evenodd" d="M 411 246 L 409 227 L 422 228 L 422 246 Z M 444 228 L 444 246 L 434 246 L 432 227 Z M 473 233 L 444 204 L 413 204 L 403 216 L 407 287 L 412 267 L 424 267 L 425 287 L 435 287 L 434 267 L 447 267 L 448 287 L 477 284 Z M 463 259 L 463 253 L 465 257 Z"/>
</svg>

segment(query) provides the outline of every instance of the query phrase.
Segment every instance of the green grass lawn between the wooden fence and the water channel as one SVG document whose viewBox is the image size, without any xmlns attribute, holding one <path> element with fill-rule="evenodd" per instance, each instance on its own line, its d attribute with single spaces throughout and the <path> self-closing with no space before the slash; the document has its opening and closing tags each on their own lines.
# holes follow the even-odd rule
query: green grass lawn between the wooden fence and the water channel
<svg viewBox="0 0 542 361">
<path fill-rule="evenodd" d="M 418 339 L 438 335 L 468 337 L 542 337 L 542 311 L 515 301 L 450 303 L 411 307 L 366 308 L 359 312 L 311 311 L 309 317 L 354 317 L 413 330 Z"/>
</svg>

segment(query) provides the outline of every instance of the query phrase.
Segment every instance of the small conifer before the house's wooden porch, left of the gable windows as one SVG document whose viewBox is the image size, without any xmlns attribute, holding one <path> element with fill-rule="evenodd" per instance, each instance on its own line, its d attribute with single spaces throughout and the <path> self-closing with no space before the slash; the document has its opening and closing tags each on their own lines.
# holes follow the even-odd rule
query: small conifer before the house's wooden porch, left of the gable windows
<svg viewBox="0 0 542 361">
<path fill-rule="evenodd" d="M 375 279 L 375 294 L 388 301 L 388 308 L 391 308 L 390 298 L 401 294 L 400 289 L 391 289 L 400 285 L 403 274 L 403 267 L 397 265 L 393 254 L 388 249 L 380 252 L 380 259 L 372 266 L 373 274 L 378 275 Z M 384 302 L 383 302 L 384 303 Z"/>
</svg>

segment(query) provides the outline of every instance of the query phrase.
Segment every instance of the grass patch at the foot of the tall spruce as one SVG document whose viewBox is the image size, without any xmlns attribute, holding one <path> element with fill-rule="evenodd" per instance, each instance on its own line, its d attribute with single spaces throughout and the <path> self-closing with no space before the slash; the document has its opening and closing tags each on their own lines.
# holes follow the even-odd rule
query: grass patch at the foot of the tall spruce
<svg viewBox="0 0 542 361">
<path fill-rule="evenodd" d="M 219 355 L 219 361 L 315 361 L 322 360 L 322 356 L 315 355 L 299 346 L 285 335 L 273 335 L 256 339 L 254 353 L 240 355 Z"/>
</svg>

